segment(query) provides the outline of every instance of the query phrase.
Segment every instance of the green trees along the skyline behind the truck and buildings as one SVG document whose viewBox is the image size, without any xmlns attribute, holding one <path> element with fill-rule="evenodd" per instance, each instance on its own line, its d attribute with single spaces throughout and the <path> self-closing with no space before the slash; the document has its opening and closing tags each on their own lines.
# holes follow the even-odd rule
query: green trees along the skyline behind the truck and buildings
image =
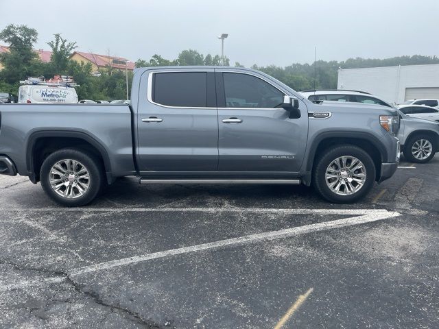
<svg viewBox="0 0 439 329">
<path fill-rule="evenodd" d="M 41 62 L 34 51 L 34 44 L 38 39 L 36 29 L 26 25 L 10 24 L 0 32 L 0 40 L 10 47 L 9 52 L 0 54 L 0 92 L 16 94 L 19 81 L 28 76 L 44 76 L 47 79 L 54 75 L 71 75 L 80 86 L 75 87 L 80 99 L 125 99 L 126 77 L 125 71 L 113 69 L 111 66 L 100 71 L 99 76 L 92 73 L 91 63 L 78 63 L 70 60 L 76 42 L 62 38 L 60 34 L 54 35 L 54 40 L 47 42 L 52 51 L 48 63 Z M 220 65 L 219 55 L 204 56 L 193 49 L 183 50 L 174 60 L 168 60 L 155 54 L 150 60 L 139 59 L 136 67 L 145 66 L 171 66 L 171 65 Z M 224 58 L 224 64 L 229 66 L 230 60 Z M 272 75 L 294 90 L 307 90 L 312 88 L 337 88 L 337 71 L 339 69 L 357 69 L 363 67 L 439 64 L 436 56 L 399 56 L 385 59 L 349 58 L 348 60 L 324 61 L 318 60 L 311 64 L 294 63 L 281 67 L 276 65 L 257 66 L 257 69 Z M 235 66 L 243 67 L 239 62 Z M 132 82 L 132 72 L 128 72 L 129 87 Z"/>
</svg>

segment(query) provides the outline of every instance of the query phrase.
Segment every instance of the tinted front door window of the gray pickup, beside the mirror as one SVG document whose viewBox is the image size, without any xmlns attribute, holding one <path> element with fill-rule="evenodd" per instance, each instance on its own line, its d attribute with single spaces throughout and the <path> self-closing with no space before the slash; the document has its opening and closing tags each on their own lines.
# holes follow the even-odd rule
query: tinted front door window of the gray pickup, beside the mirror
<svg viewBox="0 0 439 329">
<path fill-rule="evenodd" d="M 223 73 L 227 108 L 276 108 L 284 94 L 259 77 L 241 73 Z"/>
</svg>

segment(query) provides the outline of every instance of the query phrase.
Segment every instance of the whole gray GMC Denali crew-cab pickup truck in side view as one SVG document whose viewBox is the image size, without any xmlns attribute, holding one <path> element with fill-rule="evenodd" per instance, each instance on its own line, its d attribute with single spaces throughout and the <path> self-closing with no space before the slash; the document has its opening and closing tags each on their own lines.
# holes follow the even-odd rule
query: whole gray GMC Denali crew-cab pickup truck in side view
<svg viewBox="0 0 439 329">
<path fill-rule="evenodd" d="M 259 71 L 137 69 L 130 105 L 0 105 L 0 173 L 82 206 L 122 176 L 146 184 L 305 184 L 355 202 L 399 162 L 385 106 L 314 104 Z"/>
</svg>

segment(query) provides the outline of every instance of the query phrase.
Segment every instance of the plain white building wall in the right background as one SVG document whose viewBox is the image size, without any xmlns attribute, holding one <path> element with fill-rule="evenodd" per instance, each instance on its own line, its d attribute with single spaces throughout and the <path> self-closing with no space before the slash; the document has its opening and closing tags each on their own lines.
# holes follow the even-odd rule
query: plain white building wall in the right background
<svg viewBox="0 0 439 329">
<path fill-rule="evenodd" d="M 340 69 L 338 71 L 338 89 L 366 91 L 389 103 L 405 101 L 405 88 L 426 87 L 439 88 L 439 64 Z"/>
</svg>

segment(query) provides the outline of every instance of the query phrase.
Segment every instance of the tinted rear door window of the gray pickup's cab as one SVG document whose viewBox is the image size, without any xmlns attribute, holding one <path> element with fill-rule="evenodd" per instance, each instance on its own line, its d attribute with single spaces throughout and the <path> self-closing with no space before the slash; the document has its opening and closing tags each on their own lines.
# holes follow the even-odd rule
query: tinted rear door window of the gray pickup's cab
<svg viewBox="0 0 439 329">
<path fill-rule="evenodd" d="M 154 73 L 152 101 L 165 106 L 205 108 L 206 72 Z"/>
</svg>

